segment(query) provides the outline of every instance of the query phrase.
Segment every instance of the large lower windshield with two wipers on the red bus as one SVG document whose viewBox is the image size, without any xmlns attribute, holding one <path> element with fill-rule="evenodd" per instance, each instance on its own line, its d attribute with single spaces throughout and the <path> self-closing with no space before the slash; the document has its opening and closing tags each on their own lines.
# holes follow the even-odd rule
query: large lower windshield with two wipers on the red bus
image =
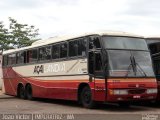
<svg viewBox="0 0 160 120">
<path fill-rule="evenodd" d="M 150 53 L 144 51 L 107 50 L 109 75 L 112 77 L 153 77 Z"/>
</svg>

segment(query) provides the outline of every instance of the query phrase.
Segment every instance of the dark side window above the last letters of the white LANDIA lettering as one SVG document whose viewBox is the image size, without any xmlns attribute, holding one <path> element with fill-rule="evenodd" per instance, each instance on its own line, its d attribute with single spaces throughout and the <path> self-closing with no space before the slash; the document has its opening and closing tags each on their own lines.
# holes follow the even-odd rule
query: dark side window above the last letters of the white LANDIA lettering
<svg viewBox="0 0 160 120">
<path fill-rule="evenodd" d="M 60 58 L 67 57 L 67 43 L 60 44 Z"/>
</svg>

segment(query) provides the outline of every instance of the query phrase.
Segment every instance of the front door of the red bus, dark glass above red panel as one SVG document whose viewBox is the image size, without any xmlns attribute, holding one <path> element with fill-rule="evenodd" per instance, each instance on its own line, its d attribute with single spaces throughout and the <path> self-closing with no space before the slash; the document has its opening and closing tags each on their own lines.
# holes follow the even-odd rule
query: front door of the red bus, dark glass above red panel
<svg viewBox="0 0 160 120">
<path fill-rule="evenodd" d="M 105 101 L 106 79 L 104 77 L 101 52 L 89 52 L 89 73 L 90 81 L 94 82 L 94 100 Z"/>
</svg>

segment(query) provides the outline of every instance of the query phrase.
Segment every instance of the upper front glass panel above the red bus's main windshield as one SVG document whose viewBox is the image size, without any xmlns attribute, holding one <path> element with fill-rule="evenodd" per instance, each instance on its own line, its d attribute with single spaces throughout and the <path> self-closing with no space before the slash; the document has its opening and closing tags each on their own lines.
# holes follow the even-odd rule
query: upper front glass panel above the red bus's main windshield
<svg viewBox="0 0 160 120">
<path fill-rule="evenodd" d="M 106 49 L 148 50 L 142 38 L 103 36 L 102 39 Z"/>
</svg>

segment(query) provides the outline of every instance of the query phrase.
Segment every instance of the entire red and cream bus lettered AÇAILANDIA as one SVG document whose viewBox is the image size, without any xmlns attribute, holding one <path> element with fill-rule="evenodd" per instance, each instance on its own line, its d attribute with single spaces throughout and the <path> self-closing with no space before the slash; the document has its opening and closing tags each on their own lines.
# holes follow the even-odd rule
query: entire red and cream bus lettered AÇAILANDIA
<svg viewBox="0 0 160 120">
<path fill-rule="evenodd" d="M 126 32 L 54 37 L 5 51 L 3 80 L 8 95 L 75 100 L 86 108 L 157 96 L 145 39 Z"/>
</svg>

